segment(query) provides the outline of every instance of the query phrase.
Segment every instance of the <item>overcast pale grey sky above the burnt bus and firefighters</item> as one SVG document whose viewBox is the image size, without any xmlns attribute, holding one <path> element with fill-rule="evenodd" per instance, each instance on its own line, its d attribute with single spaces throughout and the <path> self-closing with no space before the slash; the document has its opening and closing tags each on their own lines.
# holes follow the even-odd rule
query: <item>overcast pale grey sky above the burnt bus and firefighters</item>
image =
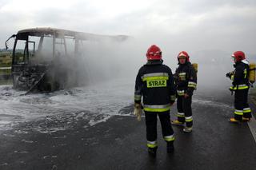
<svg viewBox="0 0 256 170">
<path fill-rule="evenodd" d="M 255 0 L 0 0 L 0 21 L 0 48 L 18 30 L 40 26 L 127 34 L 177 53 L 255 53 L 256 45 Z"/>
</svg>

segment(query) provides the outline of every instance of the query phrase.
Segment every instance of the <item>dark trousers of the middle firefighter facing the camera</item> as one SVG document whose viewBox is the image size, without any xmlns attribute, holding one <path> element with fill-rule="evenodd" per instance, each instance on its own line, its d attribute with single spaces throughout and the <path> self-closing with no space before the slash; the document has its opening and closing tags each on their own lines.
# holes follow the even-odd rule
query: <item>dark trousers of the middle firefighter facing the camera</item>
<svg viewBox="0 0 256 170">
<path fill-rule="evenodd" d="M 192 97 L 178 96 L 177 98 L 177 109 L 178 109 L 178 121 L 185 123 L 187 127 L 192 127 Z"/>
</svg>

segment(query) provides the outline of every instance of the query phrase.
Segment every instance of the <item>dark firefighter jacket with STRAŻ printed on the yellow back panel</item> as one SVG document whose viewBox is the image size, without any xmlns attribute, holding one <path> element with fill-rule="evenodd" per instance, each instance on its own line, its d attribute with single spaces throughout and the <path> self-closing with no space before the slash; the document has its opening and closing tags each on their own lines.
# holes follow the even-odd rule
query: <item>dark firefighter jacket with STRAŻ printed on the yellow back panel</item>
<svg viewBox="0 0 256 170">
<path fill-rule="evenodd" d="M 162 60 L 148 61 L 136 77 L 134 102 L 141 103 L 147 112 L 166 112 L 175 101 L 174 77 Z"/>
</svg>

